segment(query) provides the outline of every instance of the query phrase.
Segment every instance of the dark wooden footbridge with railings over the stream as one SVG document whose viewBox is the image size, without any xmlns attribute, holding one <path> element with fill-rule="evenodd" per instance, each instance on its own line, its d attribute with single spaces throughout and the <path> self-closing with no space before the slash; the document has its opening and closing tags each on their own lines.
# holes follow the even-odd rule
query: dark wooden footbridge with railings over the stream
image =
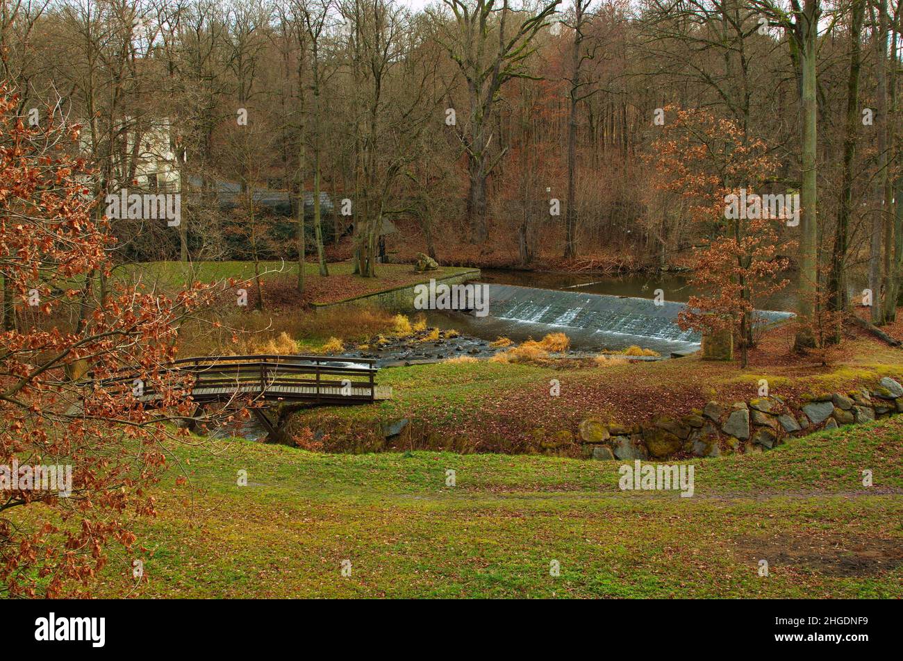
<svg viewBox="0 0 903 661">
<path fill-rule="evenodd" d="M 173 377 L 188 376 L 186 396 L 198 406 L 192 417 L 209 404 L 250 403 L 272 440 L 283 440 L 278 424 L 264 412 L 265 404 L 296 402 L 311 405 L 359 405 L 390 399 L 391 387 L 376 384 L 376 361 L 365 358 L 323 356 L 205 356 L 182 358 L 163 368 Z M 133 387 L 135 377 L 115 382 Z M 153 404 L 160 399 L 150 384 L 142 385 L 138 401 Z"/>
</svg>

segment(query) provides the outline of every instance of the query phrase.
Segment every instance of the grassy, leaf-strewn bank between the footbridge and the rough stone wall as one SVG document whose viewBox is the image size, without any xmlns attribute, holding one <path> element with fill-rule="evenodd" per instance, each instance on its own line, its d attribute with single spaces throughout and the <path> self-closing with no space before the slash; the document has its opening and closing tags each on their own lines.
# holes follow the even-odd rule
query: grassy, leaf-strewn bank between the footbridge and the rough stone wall
<svg viewBox="0 0 903 661">
<path fill-rule="evenodd" d="M 546 359 L 453 361 L 381 369 L 377 382 L 393 399 L 366 407 L 319 408 L 287 414 L 287 431 L 330 452 L 453 450 L 547 453 L 580 457 L 585 420 L 628 428 L 658 417 L 702 415 L 716 401 L 780 397 L 799 411 L 825 394 L 874 388 L 903 375 L 903 352 L 863 332 L 828 366 L 791 352 L 792 329 L 768 333 L 750 351 L 749 367 L 699 356 L 655 362 Z M 824 424 L 820 419 L 818 424 Z M 817 427 L 815 427 L 817 428 Z M 626 432 L 629 435 L 630 431 Z M 727 439 L 724 439 L 727 441 Z M 748 444 L 721 452 L 746 452 Z M 751 449 L 751 443 L 749 444 Z M 681 456 L 677 453 L 677 456 Z"/>
</svg>

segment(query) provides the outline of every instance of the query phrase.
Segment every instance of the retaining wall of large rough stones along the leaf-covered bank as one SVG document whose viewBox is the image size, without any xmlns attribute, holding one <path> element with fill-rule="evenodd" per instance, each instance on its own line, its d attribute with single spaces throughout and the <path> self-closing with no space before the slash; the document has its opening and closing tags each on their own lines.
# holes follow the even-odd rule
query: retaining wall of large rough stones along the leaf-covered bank
<svg viewBox="0 0 903 661">
<path fill-rule="evenodd" d="M 660 416 L 632 427 L 584 420 L 580 436 L 583 456 L 593 459 L 664 459 L 679 453 L 718 457 L 763 452 L 792 436 L 898 413 L 903 413 L 903 386 L 884 377 L 873 388 L 810 396 L 798 410 L 780 396 L 730 405 L 709 402 L 702 411 L 679 418 Z"/>
</svg>

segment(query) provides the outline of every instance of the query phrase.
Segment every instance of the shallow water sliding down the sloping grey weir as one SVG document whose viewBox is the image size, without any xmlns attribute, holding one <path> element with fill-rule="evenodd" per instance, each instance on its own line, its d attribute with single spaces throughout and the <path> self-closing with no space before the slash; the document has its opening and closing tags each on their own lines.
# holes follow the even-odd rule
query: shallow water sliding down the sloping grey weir
<svg viewBox="0 0 903 661">
<path fill-rule="evenodd" d="M 489 284 L 491 320 L 513 324 L 518 334 L 529 332 L 537 339 L 546 332 L 563 331 L 575 346 L 588 348 L 624 349 L 638 344 L 663 354 L 699 349 L 699 334 L 677 326 L 677 314 L 685 308 L 685 303 L 656 304 L 647 298 Z M 791 316 L 790 312 L 760 311 L 757 322 Z"/>
</svg>

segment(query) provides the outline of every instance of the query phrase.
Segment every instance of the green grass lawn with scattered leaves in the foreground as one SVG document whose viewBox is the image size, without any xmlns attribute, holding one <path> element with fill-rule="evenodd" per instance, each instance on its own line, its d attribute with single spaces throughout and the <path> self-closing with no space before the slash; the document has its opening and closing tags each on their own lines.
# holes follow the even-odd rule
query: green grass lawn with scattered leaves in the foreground
<svg viewBox="0 0 903 661">
<path fill-rule="evenodd" d="M 117 556 L 98 594 L 899 598 L 901 437 L 890 419 L 696 460 L 692 498 L 619 490 L 619 461 L 179 444 L 135 526 L 144 581 Z"/>
</svg>

